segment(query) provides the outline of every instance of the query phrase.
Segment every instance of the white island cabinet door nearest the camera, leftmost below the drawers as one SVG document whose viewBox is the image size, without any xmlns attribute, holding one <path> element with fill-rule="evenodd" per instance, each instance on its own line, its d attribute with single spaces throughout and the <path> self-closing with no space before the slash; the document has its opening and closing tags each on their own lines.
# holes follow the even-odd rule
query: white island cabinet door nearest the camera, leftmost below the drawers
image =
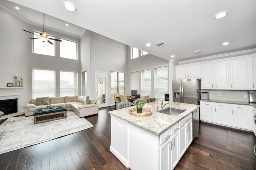
<svg viewBox="0 0 256 170">
<path fill-rule="evenodd" d="M 160 170 L 170 170 L 170 138 L 160 146 Z"/>
</svg>

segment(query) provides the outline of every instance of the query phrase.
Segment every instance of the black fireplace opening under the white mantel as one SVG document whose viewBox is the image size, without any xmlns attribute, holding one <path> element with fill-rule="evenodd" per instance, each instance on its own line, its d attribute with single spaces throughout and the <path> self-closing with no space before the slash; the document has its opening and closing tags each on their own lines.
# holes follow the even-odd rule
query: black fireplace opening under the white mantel
<svg viewBox="0 0 256 170">
<path fill-rule="evenodd" d="M 0 111 L 4 115 L 9 115 L 18 112 L 18 99 L 0 100 Z"/>
</svg>

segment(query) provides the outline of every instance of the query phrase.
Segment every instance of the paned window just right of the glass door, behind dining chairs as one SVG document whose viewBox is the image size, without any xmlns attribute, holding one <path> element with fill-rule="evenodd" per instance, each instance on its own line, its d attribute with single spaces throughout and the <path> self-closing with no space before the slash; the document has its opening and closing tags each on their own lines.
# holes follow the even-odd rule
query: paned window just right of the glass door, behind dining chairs
<svg viewBox="0 0 256 170">
<path fill-rule="evenodd" d="M 111 72 L 111 97 L 114 98 L 114 93 L 124 94 L 125 91 L 125 73 Z"/>
</svg>

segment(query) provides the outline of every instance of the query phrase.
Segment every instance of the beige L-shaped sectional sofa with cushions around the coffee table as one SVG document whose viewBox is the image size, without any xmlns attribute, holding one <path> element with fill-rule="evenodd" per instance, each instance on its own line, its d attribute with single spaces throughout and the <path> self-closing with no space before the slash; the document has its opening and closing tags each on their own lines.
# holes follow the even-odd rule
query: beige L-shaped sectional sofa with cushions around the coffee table
<svg viewBox="0 0 256 170">
<path fill-rule="evenodd" d="M 47 104 L 64 106 L 67 110 L 73 110 L 79 117 L 94 115 L 99 111 L 97 99 L 91 99 L 88 96 L 46 97 L 43 104 L 38 102 L 39 100 L 40 98 L 31 99 L 30 103 L 24 106 L 25 116 L 32 116 L 36 109 L 44 108 Z"/>
</svg>

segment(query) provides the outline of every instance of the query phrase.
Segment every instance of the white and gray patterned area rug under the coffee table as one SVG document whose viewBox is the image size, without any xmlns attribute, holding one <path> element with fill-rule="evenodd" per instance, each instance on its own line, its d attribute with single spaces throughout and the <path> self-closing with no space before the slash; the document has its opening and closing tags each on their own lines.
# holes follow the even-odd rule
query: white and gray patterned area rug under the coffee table
<svg viewBox="0 0 256 170">
<path fill-rule="evenodd" d="M 85 118 L 67 111 L 66 119 L 34 125 L 34 117 L 9 117 L 0 125 L 0 154 L 93 127 Z"/>
</svg>

